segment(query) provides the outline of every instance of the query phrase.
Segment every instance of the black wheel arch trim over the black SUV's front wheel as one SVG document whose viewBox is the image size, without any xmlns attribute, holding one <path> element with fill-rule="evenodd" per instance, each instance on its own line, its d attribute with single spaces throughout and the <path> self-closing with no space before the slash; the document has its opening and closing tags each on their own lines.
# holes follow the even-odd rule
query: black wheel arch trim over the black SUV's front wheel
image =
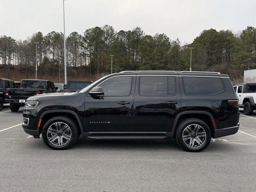
<svg viewBox="0 0 256 192">
<path fill-rule="evenodd" d="M 37 127 L 39 130 L 39 134 L 42 133 L 42 128 L 44 127 L 44 124 L 51 118 L 55 116 L 67 116 L 74 120 L 76 125 L 78 126 L 78 132 L 81 134 L 83 132 L 81 121 L 78 117 L 78 115 L 71 110 L 49 110 L 46 112 L 43 112 L 38 120 L 38 122 L 41 120 L 40 126 Z"/>
</svg>

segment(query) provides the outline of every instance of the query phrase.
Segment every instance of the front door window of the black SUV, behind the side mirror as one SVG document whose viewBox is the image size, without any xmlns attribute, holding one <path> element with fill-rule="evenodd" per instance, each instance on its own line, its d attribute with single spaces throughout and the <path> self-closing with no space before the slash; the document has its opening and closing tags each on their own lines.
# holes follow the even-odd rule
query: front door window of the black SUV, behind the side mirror
<svg viewBox="0 0 256 192">
<path fill-rule="evenodd" d="M 102 87 L 105 96 L 129 96 L 132 88 L 132 76 L 110 78 L 98 87 Z"/>
</svg>

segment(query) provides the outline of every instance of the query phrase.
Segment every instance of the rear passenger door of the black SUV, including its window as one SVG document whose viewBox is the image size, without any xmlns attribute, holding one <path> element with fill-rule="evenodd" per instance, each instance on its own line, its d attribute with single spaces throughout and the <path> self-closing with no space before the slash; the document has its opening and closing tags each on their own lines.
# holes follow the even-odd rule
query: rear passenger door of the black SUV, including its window
<svg viewBox="0 0 256 192">
<path fill-rule="evenodd" d="M 181 111 L 178 74 L 137 75 L 134 132 L 171 132 Z"/>
</svg>

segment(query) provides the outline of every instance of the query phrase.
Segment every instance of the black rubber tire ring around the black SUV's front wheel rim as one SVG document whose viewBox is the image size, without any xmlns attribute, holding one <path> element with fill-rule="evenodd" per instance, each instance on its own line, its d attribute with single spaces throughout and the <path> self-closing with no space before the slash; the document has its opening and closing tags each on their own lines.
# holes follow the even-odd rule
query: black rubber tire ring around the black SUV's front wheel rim
<svg viewBox="0 0 256 192">
<path fill-rule="evenodd" d="M 48 134 L 47 134 L 48 128 L 56 122 L 62 122 L 64 124 L 67 124 L 69 126 L 70 132 L 71 132 L 70 140 L 61 146 L 56 146 L 56 145 L 52 144 L 48 139 Z M 44 143 L 49 148 L 52 148 L 55 150 L 65 150 L 65 149 L 70 148 L 76 142 L 76 140 L 78 138 L 78 128 L 76 126 L 76 123 L 71 118 L 68 118 L 66 116 L 56 116 L 56 117 L 51 118 L 50 120 L 48 120 L 46 122 L 46 124 L 44 124 L 44 127 L 42 129 L 42 138 L 44 140 Z"/>
</svg>

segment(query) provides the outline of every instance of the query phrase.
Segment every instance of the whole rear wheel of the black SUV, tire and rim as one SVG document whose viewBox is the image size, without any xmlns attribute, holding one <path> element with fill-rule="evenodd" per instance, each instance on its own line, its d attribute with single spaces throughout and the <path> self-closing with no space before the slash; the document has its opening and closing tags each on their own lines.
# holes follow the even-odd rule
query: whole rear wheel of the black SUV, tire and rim
<svg viewBox="0 0 256 192">
<path fill-rule="evenodd" d="M 209 126 L 206 122 L 197 118 L 188 118 L 180 122 L 175 134 L 178 145 L 188 152 L 204 150 L 210 144 L 211 138 L 212 134 Z"/>
</svg>

